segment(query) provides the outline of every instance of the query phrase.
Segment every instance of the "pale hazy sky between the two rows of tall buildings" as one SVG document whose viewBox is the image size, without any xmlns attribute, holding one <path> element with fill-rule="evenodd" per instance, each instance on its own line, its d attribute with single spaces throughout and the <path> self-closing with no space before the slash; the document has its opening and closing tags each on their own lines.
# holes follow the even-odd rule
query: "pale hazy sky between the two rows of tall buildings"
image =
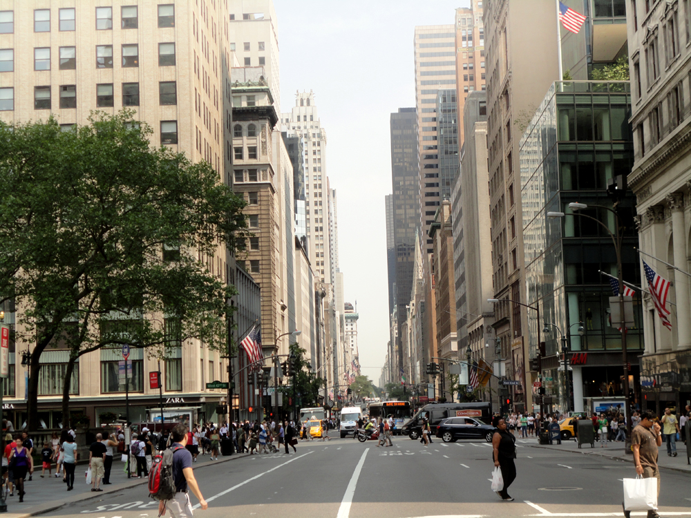
<svg viewBox="0 0 691 518">
<path fill-rule="evenodd" d="M 466 0 L 274 0 L 281 111 L 313 90 L 337 190 L 339 267 L 357 301 L 362 374 L 379 383 L 386 358 L 384 196 L 391 193 L 389 117 L 415 106 L 415 26 L 453 24 Z"/>
</svg>

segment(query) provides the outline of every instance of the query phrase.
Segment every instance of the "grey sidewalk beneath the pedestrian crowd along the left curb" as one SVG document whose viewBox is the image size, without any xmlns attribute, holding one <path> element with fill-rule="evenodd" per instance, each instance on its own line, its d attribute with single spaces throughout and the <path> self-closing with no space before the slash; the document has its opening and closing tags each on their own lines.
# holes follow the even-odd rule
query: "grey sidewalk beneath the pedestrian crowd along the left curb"
<svg viewBox="0 0 691 518">
<path fill-rule="evenodd" d="M 207 466 L 214 466 L 214 464 L 233 461 L 248 456 L 249 454 L 247 453 L 234 453 L 229 457 L 219 457 L 218 461 L 211 461 L 209 455 L 199 455 L 196 463 L 193 464 L 193 468 L 197 470 L 198 468 L 206 468 Z M 43 479 L 41 479 L 41 468 L 35 469 L 32 481 L 28 481 L 27 478 L 24 482 L 26 495 L 24 495 L 23 503 L 19 503 L 19 496 L 17 495 L 17 490 L 15 490 L 15 496 L 8 497 L 6 502 L 8 512 L 2 513 L 1 516 L 2 518 L 26 518 L 41 515 L 45 512 L 60 508 L 67 503 L 100 498 L 109 492 L 132 488 L 134 486 L 143 486 L 149 483 L 147 477 L 141 479 L 128 479 L 124 471 L 124 463 L 120 462 L 119 459 L 120 457 L 118 457 L 117 461 L 113 462 L 111 485 L 101 485 L 103 492 L 91 492 L 91 485 L 86 485 L 86 463 L 77 465 L 77 469 L 75 470 L 75 488 L 70 492 L 67 491 L 67 485 L 62 481 L 62 477 L 55 477 L 55 465 L 53 465 L 53 474 L 50 477 L 46 474 Z M 142 495 L 140 499 L 144 500 L 149 497 L 146 488 L 141 488 L 137 491 L 138 494 L 141 493 Z"/>
</svg>

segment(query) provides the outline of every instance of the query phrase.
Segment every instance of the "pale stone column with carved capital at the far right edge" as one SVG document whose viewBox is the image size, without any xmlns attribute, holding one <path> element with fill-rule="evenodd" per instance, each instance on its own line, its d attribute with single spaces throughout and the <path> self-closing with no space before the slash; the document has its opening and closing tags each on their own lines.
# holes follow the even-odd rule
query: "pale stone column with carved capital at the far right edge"
<svg viewBox="0 0 691 518">
<path fill-rule="evenodd" d="M 686 231 L 684 224 L 684 203 L 681 193 L 667 196 L 672 211 L 672 238 L 674 239 L 674 266 L 686 269 Z M 689 304 L 689 276 L 674 270 L 674 291 L 676 292 L 676 325 L 679 344 L 675 349 L 691 347 L 691 311 Z"/>
</svg>

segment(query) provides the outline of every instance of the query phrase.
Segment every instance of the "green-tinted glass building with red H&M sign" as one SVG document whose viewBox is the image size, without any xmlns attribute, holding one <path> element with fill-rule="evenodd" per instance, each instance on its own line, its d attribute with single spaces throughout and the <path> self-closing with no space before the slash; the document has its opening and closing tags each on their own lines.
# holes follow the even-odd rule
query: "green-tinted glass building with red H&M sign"
<svg viewBox="0 0 691 518">
<path fill-rule="evenodd" d="M 537 354 L 538 325 L 546 343 L 543 382 L 552 396 L 551 410 L 594 410 L 597 401 L 621 397 L 623 369 L 621 333 L 610 322 L 609 277 L 617 275 L 614 215 L 607 184 L 626 175 L 633 164 L 630 85 L 627 82 L 558 81 L 540 104 L 520 142 L 530 357 Z M 569 203 L 589 205 L 575 213 Z M 623 279 L 641 284 L 638 237 L 634 224 L 634 196 L 618 204 L 623 232 Z M 561 212 L 549 218 L 548 212 Z M 603 222 L 598 222 L 582 215 Z M 608 231 L 609 230 L 609 231 Z M 600 273 L 605 272 L 605 274 Z M 639 391 L 637 358 L 643 350 L 641 296 L 634 296 L 635 325 L 627 332 L 632 375 L 630 387 Z M 549 332 L 543 332 L 548 323 Z M 578 334 L 583 323 L 585 334 Z M 560 332 L 553 326 L 556 325 Z M 561 336 L 567 336 L 572 384 L 560 367 Z M 537 374 L 533 374 L 533 381 Z M 531 386 L 528 383 L 528 386 Z M 537 390 L 537 389 L 535 389 Z M 567 405 L 567 399 L 571 402 Z M 548 405 L 549 409 L 549 405 Z"/>
</svg>

